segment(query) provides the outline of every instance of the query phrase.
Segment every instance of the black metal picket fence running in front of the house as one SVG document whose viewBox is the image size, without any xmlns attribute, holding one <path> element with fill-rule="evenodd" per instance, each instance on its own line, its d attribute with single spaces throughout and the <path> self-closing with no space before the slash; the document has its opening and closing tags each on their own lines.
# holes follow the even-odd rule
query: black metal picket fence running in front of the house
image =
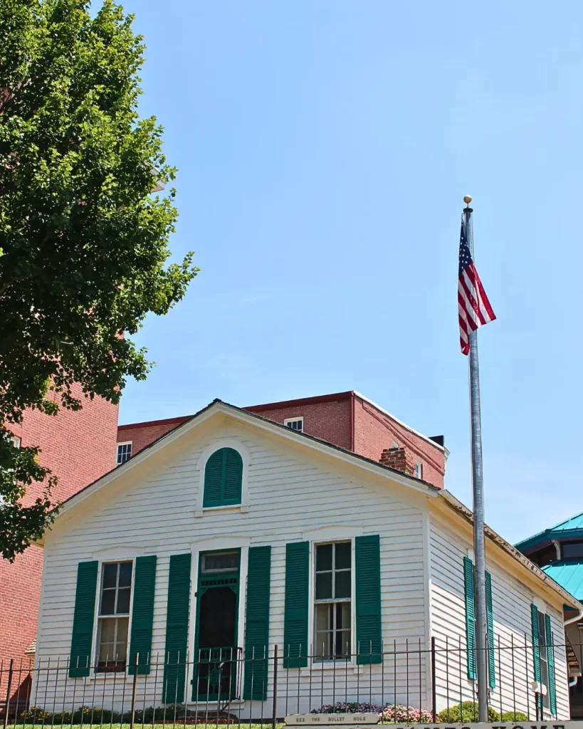
<svg viewBox="0 0 583 729">
<path fill-rule="evenodd" d="M 580 647 L 579 647 L 580 648 Z M 579 650 L 580 653 L 580 650 Z M 289 714 L 375 712 L 387 723 L 477 721 L 474 651 L 466 640 L 391 642 L 382 650 L 322 660 L 321 651 L 295 655 L 273 646 L 189 655 L 119 656 L 95 666 L 69 658 L 0 664 L 0 726 L 271 724 Z M 546 656 L 535 681 L 535 655 Z M 525 721 L 568 715 L 568 658 L 564 644 L 533 648 L 500 639 L 490 646 L 490 720 Z M 137 668 L 137 670 L 136 670 Z M 552 670 L 554 669 L 554 670 Z M 545 672 L 546 671 L 546 672 Z M 551 687 L 551 671 L 554 689 Z M 553 696 L 554 693 L 554 696 Z M 554 701 L 554 703 L 553 703 Z"/>
</svg>

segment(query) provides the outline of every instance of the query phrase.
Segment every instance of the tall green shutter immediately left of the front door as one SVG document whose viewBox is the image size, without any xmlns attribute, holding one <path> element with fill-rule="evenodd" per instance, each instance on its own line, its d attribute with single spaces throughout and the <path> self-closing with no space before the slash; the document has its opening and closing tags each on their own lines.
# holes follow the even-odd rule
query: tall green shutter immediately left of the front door
<svg viewBox="0 0 583 729">
<path fill-rule="evenodd" d="M 184 701 L 190 604 L 190 555 L 173 554 L 168 576 L 166 648 L 163 697 L 165 703 Z"/>
</svg>

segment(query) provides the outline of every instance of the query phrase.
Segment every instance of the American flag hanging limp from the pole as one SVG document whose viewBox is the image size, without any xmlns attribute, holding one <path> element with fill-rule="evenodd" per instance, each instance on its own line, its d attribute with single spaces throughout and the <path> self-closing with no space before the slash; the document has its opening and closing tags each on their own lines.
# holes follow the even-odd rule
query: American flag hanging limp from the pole
<svg viewBox="0 0 583 729">
<path fill-rule="evenodd" d="M 470 252 L 466 226 L 461 219 L 460 268 L 458 277 L 458 311 L 460 319 L 460 346 L 462 354 L 469 354 L 469 335 L 482 324 L 494 321 L 496 314 L 490 306 L 482 281 Z"/>
</svg>

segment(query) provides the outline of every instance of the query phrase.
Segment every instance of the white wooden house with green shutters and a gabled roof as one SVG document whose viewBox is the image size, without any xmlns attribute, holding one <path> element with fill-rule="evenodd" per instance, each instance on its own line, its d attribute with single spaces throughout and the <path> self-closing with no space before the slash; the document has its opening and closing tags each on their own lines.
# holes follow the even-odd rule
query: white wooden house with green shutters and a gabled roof
<svg viewBox="0 0 583 729">
<path fill-rule="evenodd" d="M 568 719 L 563 604 L 583 606 L 487 537 L 490 703 L 533 718 L 534 682 Z M 472 699 L 469 510 L 227 403 L 69 499 L 43 544 L 37 706 L 127 706 L 137 665 L 140 706 L 269 716 L 275 645 L 279 716 Z"/>
</svg>

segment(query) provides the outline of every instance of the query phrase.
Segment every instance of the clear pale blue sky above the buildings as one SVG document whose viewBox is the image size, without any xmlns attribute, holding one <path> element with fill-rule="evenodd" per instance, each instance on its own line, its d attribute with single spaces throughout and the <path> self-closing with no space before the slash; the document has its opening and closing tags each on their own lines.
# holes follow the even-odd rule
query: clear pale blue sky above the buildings
<svg viewBox="0 0 583 729">
<path fill-rule="evenodd" d="M 126 0 L 144 115 L 179 168 L 172 249 L 202 269 L 136 337 L 120 422 L 356 389 L 444 433 L 471 505 L 462 197 L 498 321 L 480 331 L 486 520 L 583 510 L 583 8 Z"/>
</svg>

